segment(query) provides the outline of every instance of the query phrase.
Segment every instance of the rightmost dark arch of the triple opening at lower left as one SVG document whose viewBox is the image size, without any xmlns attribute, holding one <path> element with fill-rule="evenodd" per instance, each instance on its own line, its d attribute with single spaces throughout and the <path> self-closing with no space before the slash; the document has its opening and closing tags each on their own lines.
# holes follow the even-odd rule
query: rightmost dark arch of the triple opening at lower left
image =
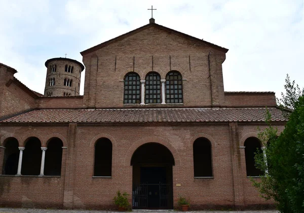
<svg viewBox="0 0 304 213">
<path fill-rule="evenodd" d="M 59 138 L 52 138 L 46 150 L 44 175 L 60 176 L 63 143 Z"/>
</svg>

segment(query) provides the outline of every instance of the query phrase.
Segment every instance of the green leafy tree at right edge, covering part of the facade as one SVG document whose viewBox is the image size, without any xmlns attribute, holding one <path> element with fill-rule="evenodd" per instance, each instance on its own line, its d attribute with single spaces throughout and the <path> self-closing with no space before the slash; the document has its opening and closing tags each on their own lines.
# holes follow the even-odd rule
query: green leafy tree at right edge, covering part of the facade
<svg viewBox="0 0 304 213">
<path fill-rule="evenodd" d="M 277 136 L 267 112 L 268 127 L 259 133 L 264 153 L 256 153 L 256 166 L 265 172 L 260 181 L 253 181 L 265 199 L 274 199 L 283 213 L 304 212 L 304 90 L 289 76 L 286 93 L 278 100 L 288 118 L 284 131 Z M 264 159 L 264 155 L 266 159 Z"/>
</svg>

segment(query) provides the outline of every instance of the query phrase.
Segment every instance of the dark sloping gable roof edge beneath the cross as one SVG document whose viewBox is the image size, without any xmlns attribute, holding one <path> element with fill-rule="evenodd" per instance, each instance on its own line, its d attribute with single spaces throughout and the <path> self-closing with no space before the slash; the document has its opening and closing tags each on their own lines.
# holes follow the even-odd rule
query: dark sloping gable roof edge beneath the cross
<svg viewBox="0 0 304 213">
<path fill-rule="evenodd" d="M 214 45 L 214 44 L 212 44 L 212 43 L 210 43 L 210 42 L 208 42 L 208 41 L 205 41 L 205 40 L 203 40 L 203 39 L 196 38 L 196 37 L 194 37 L 194 36 L 191 36 L 191 35 L 188 35 L 188 34 L 185 34 L 185 33 L 179 32 L 179 31 L 176 31 L 176 30 L 174 30 L 174 29 L 171 29 L 171 28 L 168 28 L 168 27 L 165 27 L 165 26 L 156 24 L 156 23 L 149 23 L 149 24 L 144 25 L 144 26 L 142 26 L 142 27 L 139 27 L 139 28 L 137 28 L 137 29 L 135 29 L 135 30 L 132 30 L 132 31 L 130 31 L 130 32 L 127 32 L 127 33 L 125 33 L 125 34 L 122 34 L 122 35 L 120 35 L 120 36 L 118 36 L 118 37 L 115 37 L 115 38 L 112 38 L 112 39 L 110 39 L 110 40 L 107 40 L 107 41 L 105 41 L 105 42 L 103 42 L 103 43 L 101 43 L 101 44 L 99 44 L 99 45 L 96 45 L 96 46 L 94 46 L 94 47 L 92 47 L 92 48 L 89 48 L 89 49 L 87 49 L 87 50 L 85 50 L 85 51 L 82 51 L 82 52 L 80 52 L 80 54 L 81 54 L 82 56 L 84 56 L 84 55 L 86 55 L 86 54 L 88 54 L 88 53 L 91 53 L 91 52 L 93 52 L 93 51 L 95 51 L 95 50 L 98 50 L 98 49 L 100 49 L 100 48 L 106 47 L 107 45 L 112 44 L 113 42 L 122 40 L 122 39 L 124 39 L 124 38 L 126 38 L 126 37 L 129 37 L 129 36 L 131 36 L 131 35 L 134 35 L 134 34 L 140 32 L 140 31 L 145 30 L 145 29 L 148 29 L 148 28 L 150 28 L 150 27 L 156 27 L 156 28 L 158 28 L 158 29 L 161 29 L 161 30 L 164 30 L 164 31 L 173 33 L 173 34 L 175 34 L 175 35 L 177 35 L 177 36 L 181 36 L 181 37 L 184 37 L 184 38 L 187 38 L 187 39 L 190 39 L 190 40 L 194 40 L 194 41 L 196 41 L 196 42 L 201 42 L 202 44 L 205 44 L 205 45 L 207 45 L 207 46 L 213 47 L 213 48 L 215 48 L 215 49 L 217 49 L 217 50 L 219 50 L 219 51 L 222 51 L 222 52 L 224 52 L 224 53 L 228 52 L 228 49 L 222 48 L 222 47 L 217 46 L 217 45 Z"/>
</svg>

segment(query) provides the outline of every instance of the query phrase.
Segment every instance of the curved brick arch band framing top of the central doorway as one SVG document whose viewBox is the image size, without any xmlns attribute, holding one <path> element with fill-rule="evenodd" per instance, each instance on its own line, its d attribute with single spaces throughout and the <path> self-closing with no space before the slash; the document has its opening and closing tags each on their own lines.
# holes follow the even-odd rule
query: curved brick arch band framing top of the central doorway
<svg viewBox="0 0 304 213">
<path fill-rule="evenodd" d="M 147 138 L 143 138 L 140 139 L 138 141 L 136 141 L 127 151 L 126 156 L 125 156 L 125 165 L 126 166 L 130 166 L 131 164 L 131 159 L 133 156 L 133 153 L 143 144 L 146 143 L 159 143 L 161 145 L 164 145 L 173 155 L 174 161 L 175 161 L 175 165 L 180 165 L 180 158 L 178 155 L 177 150 L 173 147 L 173 145 L 171 143 L 169 143 L 167 140 L 163 139 L 163 138 L 158 138 L 158 137 L 147 137 Z"/>
</svg>

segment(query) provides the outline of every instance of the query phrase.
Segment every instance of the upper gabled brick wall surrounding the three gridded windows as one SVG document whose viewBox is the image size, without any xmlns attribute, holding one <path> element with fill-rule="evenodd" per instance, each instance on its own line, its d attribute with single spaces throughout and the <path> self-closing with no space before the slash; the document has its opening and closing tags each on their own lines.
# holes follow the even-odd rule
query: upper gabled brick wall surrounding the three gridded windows
<svg viewBox="0 0 304 213">
<path fill-rule="evenodd" d="M 224 60 L 224 52 L 150 27 L 84 55 L 84 103 L 96 108 L 124 107 L 126 73 L 137 72 L 144 80 L 148 72 L 156 71 L 165 79 L 170 70 L 177 70 L 184 79 L 181 106 L 219 106 L 224 102 Z"/>
</svg>

